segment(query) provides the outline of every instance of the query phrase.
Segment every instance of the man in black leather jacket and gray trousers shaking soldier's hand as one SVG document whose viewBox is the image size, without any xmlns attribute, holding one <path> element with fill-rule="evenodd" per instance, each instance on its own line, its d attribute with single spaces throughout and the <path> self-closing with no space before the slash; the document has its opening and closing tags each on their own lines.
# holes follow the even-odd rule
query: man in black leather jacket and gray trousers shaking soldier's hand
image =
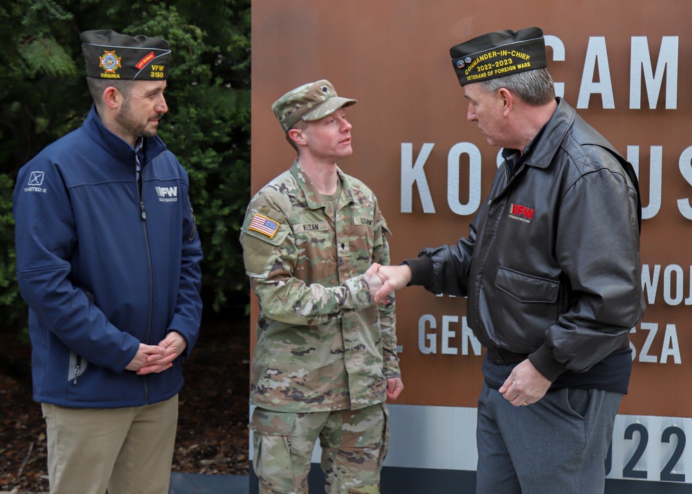
<svg viewBox="0 0 692 494">
<path fill-rule="evenodd" d="M 467 118 L 504 163 L 468 237 L 381 266 L 375 298 L 407 285 L 468 297 L 486 348 L 477 493 L 602 493 L 644 315 L 637 176 L 555 98 L 539 28 L 450 55 Z"/>
</svg>

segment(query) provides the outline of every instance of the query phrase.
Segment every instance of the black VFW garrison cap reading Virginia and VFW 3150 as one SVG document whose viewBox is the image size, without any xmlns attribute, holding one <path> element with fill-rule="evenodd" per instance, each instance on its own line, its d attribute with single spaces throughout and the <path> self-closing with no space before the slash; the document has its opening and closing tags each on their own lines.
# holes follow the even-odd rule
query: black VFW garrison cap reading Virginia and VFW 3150
<svg viewBox="0 0 692 494">
<path fill-rule="evenodd" d="M 111 30 L 80 35 L 86 75 L 98 79 L 165 80 L 171 61 L 165 39 L 131 37 Z"/>
</svg>

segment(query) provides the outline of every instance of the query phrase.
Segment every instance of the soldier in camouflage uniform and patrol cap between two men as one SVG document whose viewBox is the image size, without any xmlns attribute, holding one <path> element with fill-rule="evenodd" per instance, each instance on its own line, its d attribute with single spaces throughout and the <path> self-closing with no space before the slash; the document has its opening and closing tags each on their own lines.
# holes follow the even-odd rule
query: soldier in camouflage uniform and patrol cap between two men
<svg viewBox="0 0 692 494">
<path fill-rule="evenodd" d="M 257 192 L 242 227 L 260 302 L 250 423 L 260 493 L 307 493 L 318 439 L 327 493 L 379 493 L 385 400 L 403 384 L 394 298 L 371 296 L 390 261 L 387 224 L 372 191 L 336 166 L 352 154 L 355 102 L 320 80 L 273 104 L 298 158 Z"/>
</svg>

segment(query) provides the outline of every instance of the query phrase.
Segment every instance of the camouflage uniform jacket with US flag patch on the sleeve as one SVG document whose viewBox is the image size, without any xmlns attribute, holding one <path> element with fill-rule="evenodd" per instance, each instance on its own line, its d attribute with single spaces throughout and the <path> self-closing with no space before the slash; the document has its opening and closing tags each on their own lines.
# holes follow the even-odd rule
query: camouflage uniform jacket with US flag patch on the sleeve
<svg viewBox="0 0 692 494">
<path fill-rule="evenodd" d="M 372 191 L 338 173 L 336 212 L 297 160 L 248 206 L 240 240 L 260 302 L 251 403 L 262 408 L 363 408 L 400 376 L 394 299 L 375 305 L 363 277 L 389 264 L 389 231 Z"/>
</svg>

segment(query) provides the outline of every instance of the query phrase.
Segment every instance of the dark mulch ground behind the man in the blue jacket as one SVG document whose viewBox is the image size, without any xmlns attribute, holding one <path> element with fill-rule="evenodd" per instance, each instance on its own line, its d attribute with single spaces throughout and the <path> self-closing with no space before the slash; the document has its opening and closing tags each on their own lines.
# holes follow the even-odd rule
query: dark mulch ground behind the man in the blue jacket
<svg viewBox="0 0 692 494">
<path fill-rule="evenodd" d="M 185 363 L 173 471 L 248 475 L 250 325 L 242 308 L 202 324 Z M 30 349 L 0 339 L 0 492 L 48 491 L 46 424 L 31 399 Z"/>
</svg>

